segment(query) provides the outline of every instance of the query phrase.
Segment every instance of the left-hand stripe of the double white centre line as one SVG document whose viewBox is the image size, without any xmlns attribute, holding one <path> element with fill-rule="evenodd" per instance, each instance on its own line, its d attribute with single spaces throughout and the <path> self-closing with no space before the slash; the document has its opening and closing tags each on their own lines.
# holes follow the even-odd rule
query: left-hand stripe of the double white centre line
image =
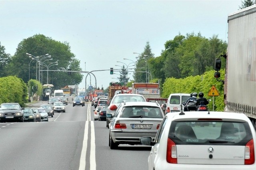
<svg viewBox="0 0 256 170">
<path fill-rule="evenodd" d="M 82 152 L 81 152 L 81 157 L 80 157 L 79 170 L 85 170 L 85 166 L 86 166 L 88 128 L 89 128 L 89 122 L 86 121 L 85 126 L 84 126 L 84 140 L 83 140 Z"/>
</svg>

